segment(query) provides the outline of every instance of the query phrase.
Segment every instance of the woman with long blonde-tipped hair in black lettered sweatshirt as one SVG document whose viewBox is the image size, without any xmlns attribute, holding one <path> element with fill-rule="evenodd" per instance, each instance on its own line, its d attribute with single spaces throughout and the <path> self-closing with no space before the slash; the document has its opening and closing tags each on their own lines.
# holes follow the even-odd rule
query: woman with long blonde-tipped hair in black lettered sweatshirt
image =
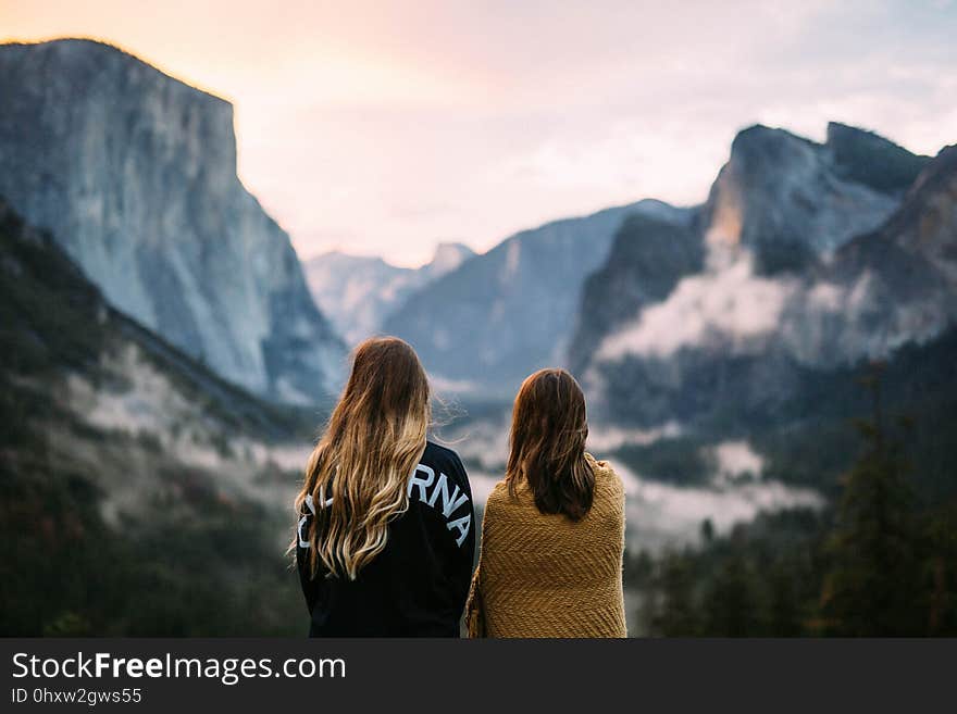
<svg viewBox="0 0 957 714">
<path fill-rule="evenodd" d="M 384 337 L 356 349 L 296 499 L 311 636 L 459 634 L 472 492 L 458 455 L 426 439 L 428 400 L 409 345 Z"/>
</svg>

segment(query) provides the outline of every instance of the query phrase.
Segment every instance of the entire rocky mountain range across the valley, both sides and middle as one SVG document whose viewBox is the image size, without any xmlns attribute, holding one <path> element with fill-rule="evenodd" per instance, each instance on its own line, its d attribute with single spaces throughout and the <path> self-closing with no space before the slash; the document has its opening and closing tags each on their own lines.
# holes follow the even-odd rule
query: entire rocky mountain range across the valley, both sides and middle
<svg viewBox="0 0 957 714">
<path fill-rule="evenodd" d="M 300 266 L 236 176 L 228 103 L 87 40 L 0 47 L 0 195 L 112 306 L 273 401 L 322 400 L 346 342 L 388 333 L 440 391 L 507 400 L 560 364 L 612 421 L 770 413 L 806 371 L 890 356 L 957 313 L 954 148 L 753 126 L 700 205 L 443 245 L 419 270 Z"/>
</svg>

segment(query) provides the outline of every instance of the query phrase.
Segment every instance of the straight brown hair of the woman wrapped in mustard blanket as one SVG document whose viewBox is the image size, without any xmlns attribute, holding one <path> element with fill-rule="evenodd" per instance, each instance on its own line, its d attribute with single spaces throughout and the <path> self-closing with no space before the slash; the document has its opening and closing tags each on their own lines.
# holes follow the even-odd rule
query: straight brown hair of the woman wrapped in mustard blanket
<svg viewBox="0 0 957 714">
<path fill-rule="evenodd" d="M 595 473 L 585 459 L 585 396 L 564 369 L 539 369 L 522 383 L 512 409 L 506 483 L 529 484 L 542 513 L 580 521 L 592 508 Z"/>
</svg>

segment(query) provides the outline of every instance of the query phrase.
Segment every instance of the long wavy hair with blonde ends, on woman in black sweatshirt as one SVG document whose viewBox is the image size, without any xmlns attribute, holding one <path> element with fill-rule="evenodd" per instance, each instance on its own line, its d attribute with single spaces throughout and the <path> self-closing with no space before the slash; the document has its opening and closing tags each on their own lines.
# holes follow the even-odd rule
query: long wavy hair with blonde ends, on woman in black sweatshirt
<svg viewBox="0 0 957 714">
<path fill-rule="evenodd" d="M 415 351 L 396 337 L 356 348 L 352 373 L 306 466 L 297 513 L 316 514 L 310 568 L 356 579 L 388 540 L 388 524 L 409 508 L 407 485 L 431 417 L 428 379 Z M 309 501 L 309 502 L 307 502 Z"/>
</svg>

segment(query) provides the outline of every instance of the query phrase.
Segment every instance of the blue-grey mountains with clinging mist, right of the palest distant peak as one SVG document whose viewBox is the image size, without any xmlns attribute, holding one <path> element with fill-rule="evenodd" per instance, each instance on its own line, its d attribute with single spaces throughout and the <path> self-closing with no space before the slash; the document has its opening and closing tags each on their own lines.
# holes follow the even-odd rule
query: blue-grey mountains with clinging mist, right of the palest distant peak
<svg viewBox="0 0 957 714">
<path fill-rule="evenodd" d="M 507 397 L 563 364 L 614 419 L 773 403 L 792 367 L 888 354 L 947 323 L 946 255 L 919 271 L 869 239 L 925 221 L 929 189 L 915 191 L 945 163 L 836 123 L 824 143 L 753 126 L 701 205 L 645 200 L 517 234 L 397 301 L 383 328 L 463 392 Z M 863 245 L 872 264 L 852 268 Z M 913 279 L 890 276 L 903 270 Z"/>
</svg>

